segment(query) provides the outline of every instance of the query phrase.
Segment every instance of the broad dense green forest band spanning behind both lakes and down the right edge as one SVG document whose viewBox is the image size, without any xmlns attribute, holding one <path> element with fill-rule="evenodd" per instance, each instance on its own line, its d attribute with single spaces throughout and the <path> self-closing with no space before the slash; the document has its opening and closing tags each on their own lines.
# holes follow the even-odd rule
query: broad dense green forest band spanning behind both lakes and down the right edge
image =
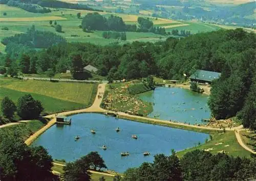
<svg viewBox="0 0 256 181">
<path fill-rule="evenodd" d="M 90 43 L 59 43 L 35 50 L 12 44 L 2 55 L 0 66 L 19 67 L 26 73 L 71 70 L 91 64 L 98 74 L 112 80 L 132 80 L 148 75 L 183 80 L 197 69 L 221 72 L 212 83 L 208 105 L 212 116 L 225 119 L 239 117 L 245 127 L 256 128 L 255 34 L 242 29 L 219 30 L 166 41 L 133 42 L 99 46 Z M 12 50 L 12 49 L 15 49 Z M 16 61 L 17 60 L 17 61 Z M 24 68 L 25 67 L 25 68 Z M 25 73 L 25 72 L 23 72 Z"/>
</svg>

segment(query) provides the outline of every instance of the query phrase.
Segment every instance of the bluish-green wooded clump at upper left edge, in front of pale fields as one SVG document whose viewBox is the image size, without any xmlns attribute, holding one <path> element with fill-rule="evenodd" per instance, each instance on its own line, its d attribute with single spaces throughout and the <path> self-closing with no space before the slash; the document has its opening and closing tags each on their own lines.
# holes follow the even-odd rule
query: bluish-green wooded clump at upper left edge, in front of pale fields
<svg viewBox="0 0 256 181">
<path fill-rule="evenodd" d="M 47 48 L 55 43 L 66 42 L 65 38 L 51 32 L 35 30 L 34 25 L 25 34 L 16 34 L 11 37 L 3 38 L 4 45 L 9 43 L 23 44 L 23 46 L 34 48 Z"/>
</svg>

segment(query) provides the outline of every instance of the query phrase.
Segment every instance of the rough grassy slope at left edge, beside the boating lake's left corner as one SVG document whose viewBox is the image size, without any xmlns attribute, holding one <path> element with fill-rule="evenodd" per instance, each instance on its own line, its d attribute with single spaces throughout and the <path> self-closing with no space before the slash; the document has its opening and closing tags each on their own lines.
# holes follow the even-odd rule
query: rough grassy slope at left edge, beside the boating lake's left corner
<svg viewBox="0 0 256 181">
<path fill-rule="evenodd" d="M 25 141 L 29 136 L 34 134 L 36 131 L 40 130 L 45 123 L 39 120 L 32 120 L 29 122 L 22 122 L 8 127 L 3 127 L 0 129 L 0 141 L 3 137 L 8 137 L 8 135 L 16 133 Z"/>
</svg>

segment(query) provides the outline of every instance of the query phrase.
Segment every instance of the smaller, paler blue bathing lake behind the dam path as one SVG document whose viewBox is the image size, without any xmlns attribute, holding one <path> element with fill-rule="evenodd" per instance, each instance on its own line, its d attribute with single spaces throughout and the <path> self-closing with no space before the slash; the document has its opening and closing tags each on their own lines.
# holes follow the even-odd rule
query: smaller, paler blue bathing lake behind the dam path
<svg viewBox="0 0 256 181">
<path fill-rule="evenodd" d="M 205 123 L 201 119 L 210 118 L 207 95 L 182 88 L 157 87 L 154 91 L 139 94 L 142 100 L 154 102 L 153 112 L 149 117 L 162 120 Z"/>
</svg>

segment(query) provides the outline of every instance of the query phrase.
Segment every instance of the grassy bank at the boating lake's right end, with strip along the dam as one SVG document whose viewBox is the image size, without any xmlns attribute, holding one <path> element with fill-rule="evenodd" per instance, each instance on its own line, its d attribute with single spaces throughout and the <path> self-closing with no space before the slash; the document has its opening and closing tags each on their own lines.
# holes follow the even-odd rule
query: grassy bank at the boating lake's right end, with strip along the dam
<svg viewBox="0 0 256 181">
<path fill-rule="evenodd" d="M 200 145 L 193 147 L 193 148 L 188 148 L 182 151 L 179 151 L 177 155 L 179 157 L 182 157 L 186 152 L 192 151 L 195 149 L 209 149 L 209 151 L 213 154 L 216 154 L 218 152 L 226 151 L 229 155 L 231 156 L 240 156 L 240 157 L 250 157 L 250 152 L 245 150 L 240 144 L 237 142 L 237 138 L 234 135 L 233 131 L 226 131 L 225 133 L 220 130 L 205 130 L 203 128 L 196 128 L 196 127 L 189 127 L 189 126 L 184 126 L 184 125 L 175 125 L 172 123 L 162 123 L 162 122 L 154 122 L 150 120 L 144 120 L 144 119 L 135 119 L 135 118 L 128 118 L 125 116 L 119 116 L 119 118 L 122 119 L 127 119 L 127 120 L 132 120 L 132 121 L 137 121 L 137 122 L 143 122 L 147 124 L 155 124 L 155 125 L 161 125 L 161 126 L 167 126 L 167 127 L 173 127 L 173 128 L 178 128 L 182 130 L 188 130 L 188 131 L 194 131 L 194 132 L 200 132 L 200 133 L 206 133 L 211 135 L 212 140 L 206 142 L 206 143 L 200 143 Z M 228 146 L 227 146 L 228 145 Z"/>
</svg>

